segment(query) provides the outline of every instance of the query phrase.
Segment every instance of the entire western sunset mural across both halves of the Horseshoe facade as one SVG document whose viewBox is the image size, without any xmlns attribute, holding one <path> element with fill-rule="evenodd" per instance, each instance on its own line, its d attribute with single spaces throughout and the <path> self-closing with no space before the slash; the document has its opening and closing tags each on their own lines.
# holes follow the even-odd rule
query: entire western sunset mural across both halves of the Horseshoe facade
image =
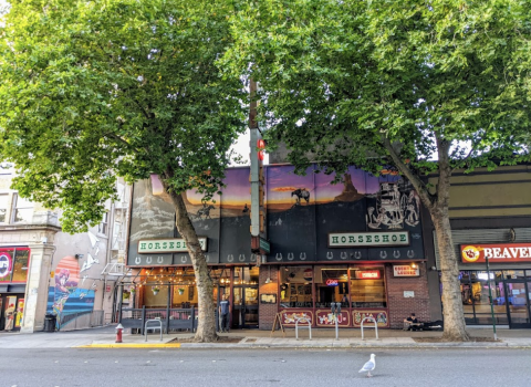
<svg viewBox="0 0 531 387">
<path fill-rule="evenodd" d="M 350 167 L 342 182 L 334 176 L 305 176 L 294 167 L 266 168 L 267 231 L 271 243 L 269 262 L 423 259 L 420 200 L 412 185 L 393 171 L 378 177 Z M 222 195 L 204 202 L 188 191 L 185 203 L 200 237 L 208 238 L 208 263 L 251 263 L 249 168 L 227 170 Z M 179 238 L 175 211 L 156 176 L 134 187 L 128 249 L 129 265 L 189 265 L 187 252 L 139 254 L 138 241 Z M 393 231 L 409 233 L 405 247 L 329 248 L 334 232 Z"/>
</svg>

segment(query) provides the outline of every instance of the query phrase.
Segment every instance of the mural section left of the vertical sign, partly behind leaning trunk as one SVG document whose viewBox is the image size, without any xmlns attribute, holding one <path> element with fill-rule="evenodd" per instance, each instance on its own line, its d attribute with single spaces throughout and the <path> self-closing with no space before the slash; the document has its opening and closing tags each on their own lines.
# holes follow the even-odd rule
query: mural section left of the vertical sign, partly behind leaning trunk
<svg viewBox="0 0 531 387">
<path fill-rule="evenodd" d="M 187 191 L 184 196 L 190 220 L 198 236 L 208 238 L 207 263 L 250 263 L 249 239 L 249 169 L 227 171 L 223 195 L 208 202 L 202 195 Z M 164 192 L 160 180 L 149 180 L 134 186 L 133 216 L 128 250 L 129 265 L 190 265 L 187 252 L 139 254 L 138 241 L 158 238 L 180 238 L 175 227 L 175 211 L 170 198 Z"/>
</svg>

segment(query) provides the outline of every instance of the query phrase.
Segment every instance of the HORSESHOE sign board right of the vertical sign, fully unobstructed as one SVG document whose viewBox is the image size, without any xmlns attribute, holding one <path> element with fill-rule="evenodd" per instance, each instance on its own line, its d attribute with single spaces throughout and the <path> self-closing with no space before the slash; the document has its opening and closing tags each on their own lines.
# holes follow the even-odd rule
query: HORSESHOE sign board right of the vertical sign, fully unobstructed
<svg viewBox="0 0 531 387">
<path fill-rule="evenodd" d="M 409 231 L 329 233 L 329 248 L 409 245 Z"/>
</svg>

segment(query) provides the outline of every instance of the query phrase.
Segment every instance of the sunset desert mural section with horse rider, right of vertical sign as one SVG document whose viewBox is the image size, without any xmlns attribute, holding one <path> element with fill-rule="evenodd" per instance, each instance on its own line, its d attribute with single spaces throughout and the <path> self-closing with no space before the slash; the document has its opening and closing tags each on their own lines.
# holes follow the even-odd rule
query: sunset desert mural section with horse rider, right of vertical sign
<svg viewBox="0 0 531 387">
<path fill-rule="evenodd" d="M 412 185 L 396 174 L 376 177 L 350 167 L 342 182 L 334 176 L 296 176 L 292 166 L 268 168 L 269 262 L 421 259 L 420 201 Z M 304 192 L 304 195 L 302 195 Z M 308 199 L 308 200 L 306 200 Z M 335 232 L 405 230 L 410 245 L 331 249 Z"/>
</svg>

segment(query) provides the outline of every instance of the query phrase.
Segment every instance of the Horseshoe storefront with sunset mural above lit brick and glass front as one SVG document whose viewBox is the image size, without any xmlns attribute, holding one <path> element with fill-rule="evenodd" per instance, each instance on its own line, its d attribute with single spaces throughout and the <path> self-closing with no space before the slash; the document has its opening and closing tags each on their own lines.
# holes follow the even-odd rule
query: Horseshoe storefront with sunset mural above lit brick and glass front
<svg viewBox="0 0 531 387">
<path fill-rule="evenodd" d="M 249 168 L 228 170 L 223 195 L 208 203 L 195 192 L 185 196 L 215 300 L 225 292 L 233 305 L 231 326 L 271 330 L 280 313 L 288 326 L 309 316 L 326 327 L 335 324 L 332 302 L 343 305 L 343 327 L 366 316 L 381 327 L 402 327 L 412 312 L 429 320 L 420 200 L 412 186 L 392 170 L 375 177 L 351 167 L 333 185 L 334 177 L 315 174 L 314 166 L 306 176 L 293 169 L 266 168 L 270 251 L 262 257 L 250 247 Z M 134 186 L 127 264 L 126 306 L 196 306 L 189 255 L 156 176 Z"/>
</svg>

